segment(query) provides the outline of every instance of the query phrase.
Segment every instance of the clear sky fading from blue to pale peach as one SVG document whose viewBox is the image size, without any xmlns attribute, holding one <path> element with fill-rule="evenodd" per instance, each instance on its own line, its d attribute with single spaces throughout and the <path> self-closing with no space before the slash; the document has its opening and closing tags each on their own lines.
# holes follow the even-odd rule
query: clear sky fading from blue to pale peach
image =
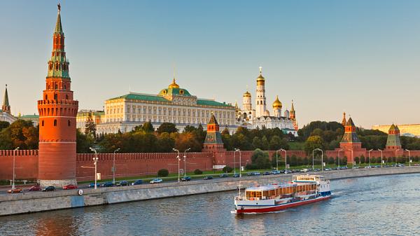
<svg viewBox="0 0 420 236">
<path fill-rule="evenodd" d="M 267 108 L 293 99 L 313 120 L 420 123 L 420 1 L 61 1 L 79 109 L 176 81 L 192 95 Z M 0 91 L 15 114 L 37 113 L 57 1 L 0 1 Z M 174 69 L 175 68 L 175 69 Z M 3 99 L 3 95 L 1 95 Z M 2 102 L 2 101 L 1 101 Z"/>
</svg>

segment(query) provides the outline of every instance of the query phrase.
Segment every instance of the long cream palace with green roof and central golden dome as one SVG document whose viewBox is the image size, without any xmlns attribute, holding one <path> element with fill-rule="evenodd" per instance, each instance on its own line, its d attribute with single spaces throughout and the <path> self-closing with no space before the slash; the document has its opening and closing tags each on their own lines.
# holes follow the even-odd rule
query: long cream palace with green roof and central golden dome
<svg viewBox="0 0 420 236">
<path fill-rule="evenodd" d="M 151 121 L 154 128 L 174 123 L 182 131 L 187 125 L 206 125 L 211 113 L 222 129 L 235 132 L 235 106 L 213 99 L 200 99 L 174 81 L 158 95 L 130 92 L 105 101 L 104 115 L 97 125 L 97 134 L 130 132 L 134 127 Z"/>
</svg>

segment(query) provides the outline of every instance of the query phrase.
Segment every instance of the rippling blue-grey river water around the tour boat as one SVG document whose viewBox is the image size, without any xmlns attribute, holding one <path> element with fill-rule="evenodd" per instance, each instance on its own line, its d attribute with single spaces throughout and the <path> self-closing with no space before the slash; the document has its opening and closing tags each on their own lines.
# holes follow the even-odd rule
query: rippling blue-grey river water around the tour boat
<svg viewBox="0 0 420 236">
<path fill-rule="evenodd" d="M 0 217 L 0 235 L 420 235 L 420 174 L 331 184 L 276 213 L 236 216 L 231 191 Z"/>
</svg>

